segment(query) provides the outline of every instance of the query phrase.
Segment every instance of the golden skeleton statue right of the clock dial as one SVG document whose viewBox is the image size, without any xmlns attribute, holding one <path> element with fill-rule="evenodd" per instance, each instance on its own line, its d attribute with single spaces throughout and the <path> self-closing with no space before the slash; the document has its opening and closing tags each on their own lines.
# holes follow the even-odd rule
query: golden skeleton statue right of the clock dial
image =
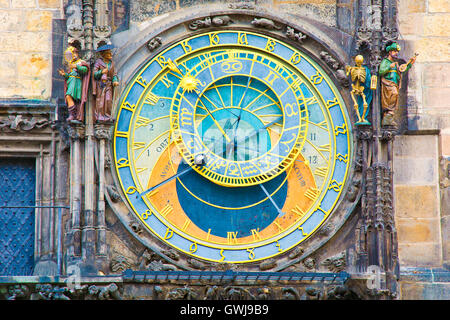
<svg viewBox="0 0 450 320">
<path fill-rule="evenodd" d="M 372 102 L 371 90 L 371 73 L 367 66 L 363 65 L 364 57 L 357 55 L 355 57 L 355 66 L 346 66 L 345 71 L 347 77 L 350 75 L 352 79 L 352 91 L 350 92 L 353 100 L 358 121 L 356 125 L 370 125 L 367 121 L 369 113 L 369 105 Z"/>
</svg>

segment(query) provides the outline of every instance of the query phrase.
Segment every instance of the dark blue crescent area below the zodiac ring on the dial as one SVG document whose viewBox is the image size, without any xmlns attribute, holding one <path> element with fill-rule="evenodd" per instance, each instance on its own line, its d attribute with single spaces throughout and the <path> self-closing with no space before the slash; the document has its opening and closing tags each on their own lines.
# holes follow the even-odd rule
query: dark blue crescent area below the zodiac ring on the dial
<svg viewBox="0 0 450 320">
<path fill-rule="evenodd" d="M 188 168 L 186 164 L 180 164 L 178 172 Z M 238 232 L 237 237 L 246 237 L 251 235 L 251 230 L 263 230 L 269 226 L 278 216 L 272 202 L 267 199 L 262 188 L 257 186 L 250 187 L 224 187 L 215 184 L 202 177 L 195 171 L 180 177 L 184 186 L 193 194 L 206 202 L 221 207 L 230 207 L 236 209 L 217 208 L 208 205 L 193 197 L 177 180 L 177 195 L 181 207 L 189 219 L 200 229 L 219 237 L 227 237 L 228 232 Z M 280 185 L 282 186 L 280 187 Z M 287 195 L 286 173 L 270 181 L 265 182 L 264 187 L 269 194 L 272 194 L 278 187 L 280 189 L 272 198 L 279 208 L 282 208 Z M 258 205 L 246 209 L 237 209 L 257 203 L 263 199 L 265 201 Z"/>
</svg>

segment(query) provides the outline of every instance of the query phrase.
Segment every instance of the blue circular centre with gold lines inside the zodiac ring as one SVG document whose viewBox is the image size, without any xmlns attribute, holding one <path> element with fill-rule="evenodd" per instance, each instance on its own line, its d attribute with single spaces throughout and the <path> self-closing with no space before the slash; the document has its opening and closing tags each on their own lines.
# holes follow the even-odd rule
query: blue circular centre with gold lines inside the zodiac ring
<svg viewBox="0 0 450 320">
<path fill-rule="evenodd" d="M 212 105 L 216 90 L 225 97 L 225 108 Z M 283 128 L 283 111 L 275 93 L 263 82 L 244 76 L 225 77 L 209 85 L 197 101 L 195 119 L 196 131 L 207 150 L 231 161 L 263 156 L 276 145 Z M 267 127 L 267 121 L 273 125 Z"/>
</svg>

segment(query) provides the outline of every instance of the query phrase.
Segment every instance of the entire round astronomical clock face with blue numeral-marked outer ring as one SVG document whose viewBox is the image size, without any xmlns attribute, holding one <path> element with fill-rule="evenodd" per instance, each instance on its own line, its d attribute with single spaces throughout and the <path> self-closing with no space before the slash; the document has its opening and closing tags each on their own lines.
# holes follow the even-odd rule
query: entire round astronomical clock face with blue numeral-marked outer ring
<svg viewBox="0 0 450 320">
<path fill-rule="evenodd" d="M 151 233 L 196 258 L 286 252 L 332 214 L 351 127 L 337 89 L 303 52 L 252 32 L 179 41 L 125 89 L 116 173 Z"/>
</svg>

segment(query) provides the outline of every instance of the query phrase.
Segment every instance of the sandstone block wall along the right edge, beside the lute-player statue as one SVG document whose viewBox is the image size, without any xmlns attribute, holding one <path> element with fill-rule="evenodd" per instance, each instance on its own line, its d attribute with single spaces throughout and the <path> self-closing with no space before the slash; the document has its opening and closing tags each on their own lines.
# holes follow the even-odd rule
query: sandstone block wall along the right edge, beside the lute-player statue
<svg viewBox="0 0 450 320">
<path fill-rule="evenodd" d="M 399 1 L 399 28 L 408 59 L 408 131 L 397 137 L 394 182 L 400 262 L 442 266 L 450 258 L 450 2 Z"/>
</svg>

